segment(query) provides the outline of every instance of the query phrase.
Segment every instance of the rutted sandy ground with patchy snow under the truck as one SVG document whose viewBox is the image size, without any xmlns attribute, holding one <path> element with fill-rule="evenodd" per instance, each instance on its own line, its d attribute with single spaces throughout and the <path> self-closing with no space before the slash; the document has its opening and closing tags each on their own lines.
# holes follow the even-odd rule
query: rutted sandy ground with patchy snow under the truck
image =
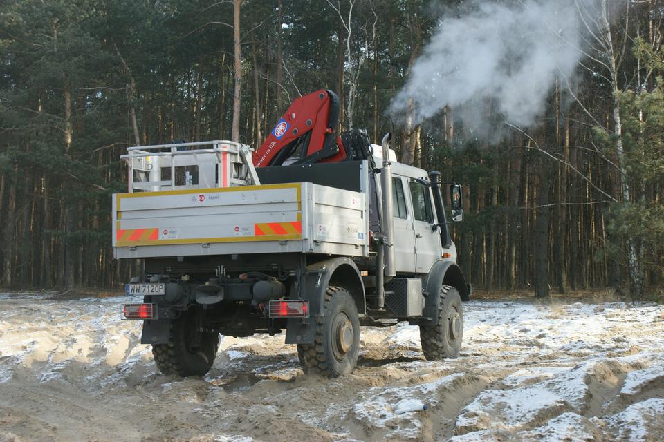
<svg viewBox="0 0 664 442">
<path fill-rule="evenodd" d="M 356 372 L 304 376 L 283 336 L 156 373 L 124 298 L 0 295 L 0 441 L 664 440 L 664 307 L 475 300 L 461 357 L 363 328 Z M 404 398 L 428 410 L 394 414 Z"/>
</svg>

